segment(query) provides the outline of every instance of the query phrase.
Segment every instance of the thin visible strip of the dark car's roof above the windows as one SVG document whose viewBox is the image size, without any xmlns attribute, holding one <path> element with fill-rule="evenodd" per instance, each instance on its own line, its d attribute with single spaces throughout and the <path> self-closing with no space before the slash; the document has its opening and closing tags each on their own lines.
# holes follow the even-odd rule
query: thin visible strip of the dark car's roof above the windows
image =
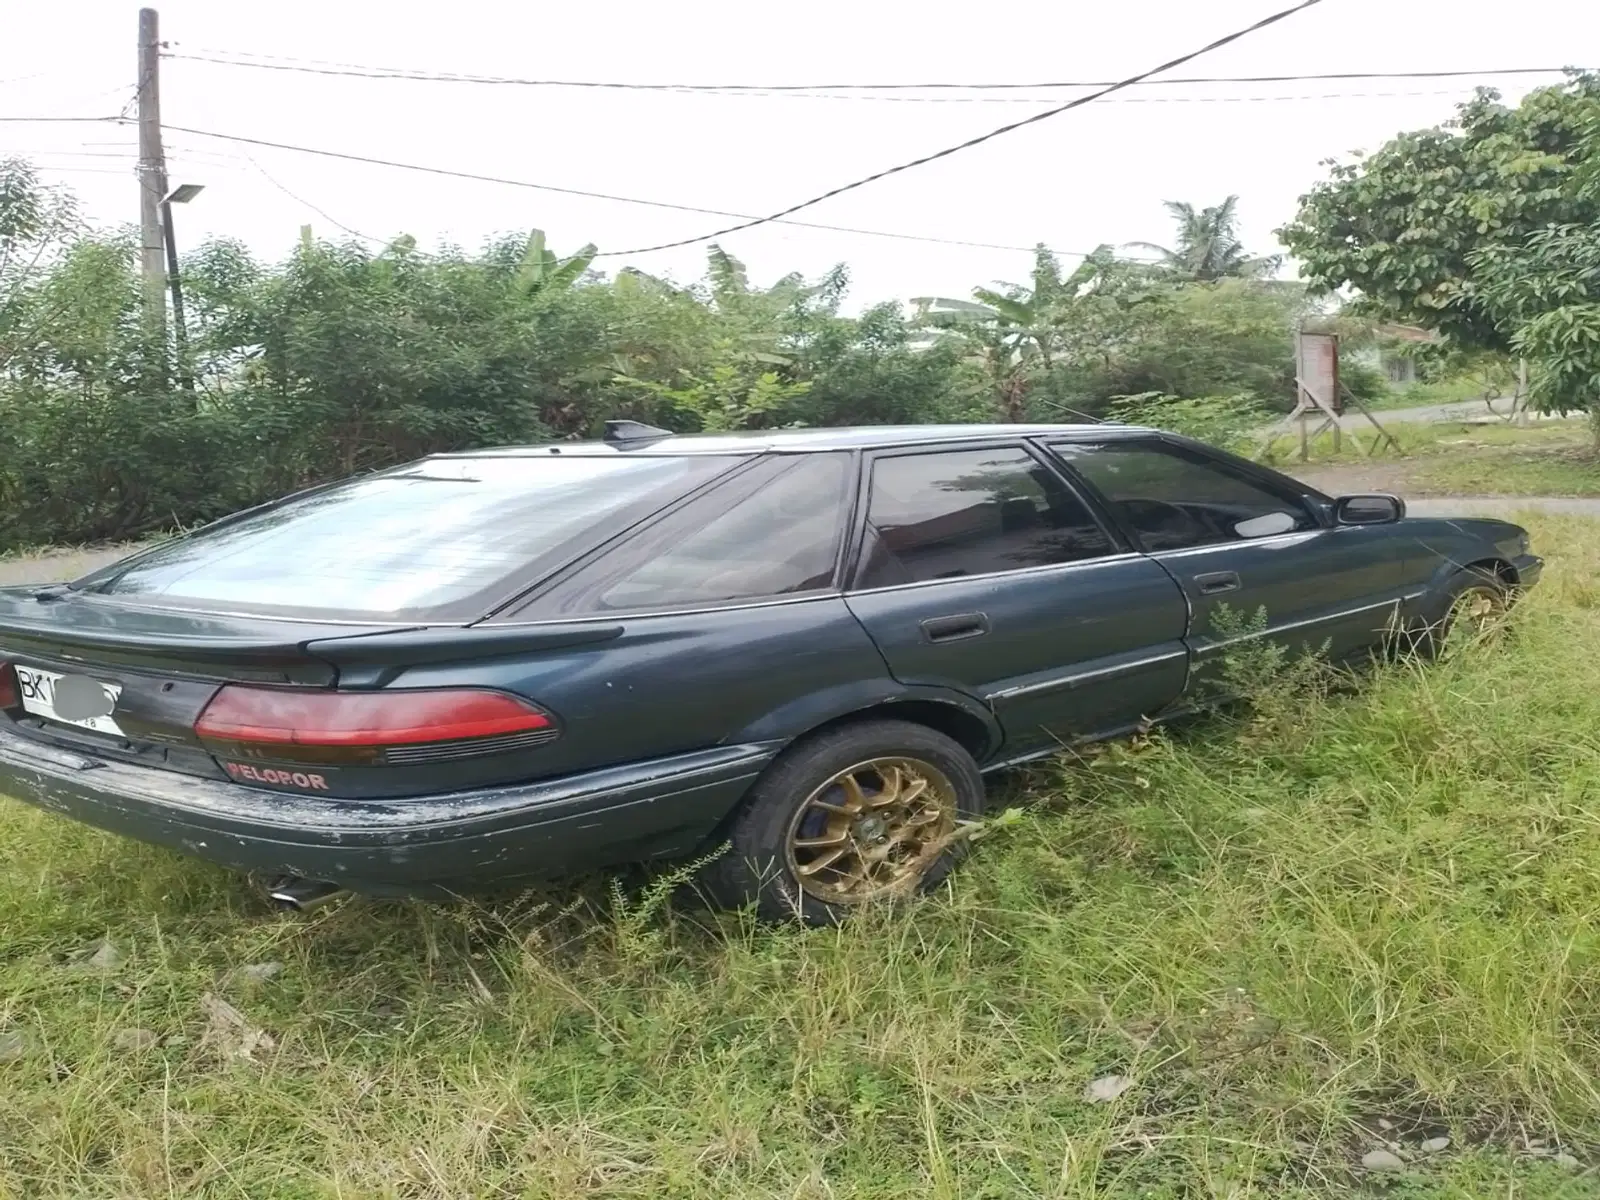
<svg viewBox="0 0 1600 1200">
<path fill-rule="evenodd" d="M 1040 437 L 1130 430 L 1142 426 L 846 426 L 840 429 L 749 429 L 733 434 L 672 434 L 634 442 L 549 442 L 528 446 L 467 450 L 434 458 L 506 458 L 533 454 L 794 454 L 824 450 L 915 446 L 931 442 L 979 442 L 995 437 Z"/>
</svg>

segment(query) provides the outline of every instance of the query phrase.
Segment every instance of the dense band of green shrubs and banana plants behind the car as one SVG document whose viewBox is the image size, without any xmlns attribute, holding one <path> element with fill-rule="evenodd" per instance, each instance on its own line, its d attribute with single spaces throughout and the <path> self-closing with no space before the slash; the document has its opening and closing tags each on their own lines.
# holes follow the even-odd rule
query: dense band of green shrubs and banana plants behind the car
<svg viewBox="0 0 1600 1200">
<path fill-rule="evenodd" d="M 677 286 L 606 278 L 592 254 L 538 230 L 429 251 L 304 229 L 278 262 L 202 245 L 182 262 L 189 394 L 141 322 L 133 238 L 83 227 L 69 195 L 8 165 L 0 549 L 138 536 L 434 451 L 594 437 L 608 418 L 1059 418 L 1160 390 L 1194 424 L 1216 416 L 1198 397 L 1274 395 L 1299 294 L 1155 277 L 1109 248 L 1062 270 L 1040 250 L 1022 285 L 846 315 L 843 267 L 760 286 L 714 246 L 706 278 Z"/>
</svg>

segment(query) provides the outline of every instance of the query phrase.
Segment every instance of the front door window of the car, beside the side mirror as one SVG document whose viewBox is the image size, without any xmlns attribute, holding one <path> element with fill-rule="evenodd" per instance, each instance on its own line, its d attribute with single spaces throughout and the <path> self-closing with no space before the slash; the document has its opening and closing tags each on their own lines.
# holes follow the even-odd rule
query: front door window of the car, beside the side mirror
<svg viewBox="0 0 1600 1200">
<path fill-rule="evenodd" d="M 1051 450 L 1099 490 L 1146 550 L 1317 528 L 1302 501 L 1186 446 L 1102 442 Z"/>
</svg>

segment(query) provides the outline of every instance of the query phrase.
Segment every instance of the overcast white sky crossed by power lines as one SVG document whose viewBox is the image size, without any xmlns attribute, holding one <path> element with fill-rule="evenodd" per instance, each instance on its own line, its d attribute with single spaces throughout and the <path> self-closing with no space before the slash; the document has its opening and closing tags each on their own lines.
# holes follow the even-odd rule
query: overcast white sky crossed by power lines
<svg viewBox="0 0 1600 1200">
<path fill-rule="evenodd" d="M 162 37 L 178 53 L 546 78 L 856 83 L 1117 78 L 1285 3 L 165 0 L 158 8 Z M 8 51 L 0 58 L 0 115 L 117 112 L 134 80 L 138 8 L 125 0 L 0 0 Z M 1325 0 L 1174 74 L 1597 66 L 1584 58 L 1600 59 L 1600 5 L 1586 0 Z M 173 59 L 162 72 L 168 125 L 741 213 L 773 211 L 1048 107 L 414 83 Z M 1325 174 L 1320 160 L 1448 118 L 1477 82 L 1138 88 L 1120 98 L 1445 94 L 1102 101 L 829 200 L 798 219 L 1085 251 L 1099 242 L 1168 243 L 1162 200 L 1205 205 L 1237 192 L 1246 245 L 1266 253 L 1277 248 L 1272 229 L 1293 214 L 1296 197 Z M 1515 99 L 1544 80 L 1483 82 Z M 138 214 L 131 126 L 0 123 L 5 154 L 27 155 L 48 178 L 70 184 L 98 221 Z M 174 184 L 206 186 L 179 210 L 181 242 L 227 234 L 266 258 L 285 254 L 306 222 L 322 235 L 339 237 L 338 221 L 374 237 L 410 232 L 424 245 L 450 238 L 466 246 L 538 226 L 563 253 L 584 242 L 626 250 L 725 224 L 192 134 L 168 134 L 168 154 Z M 816 275 L 846 261 L 853 307 L 930 293 L 966 296 L 974 285 L 1024 278 L 1029 266 L 1026 253 L 1006 250 L 786 226 L 730 235 L 725 246 L 757 282 L 789 270 Z M 690 280 L 701 275 L 704 248 L 597 266 L 614 270 L 629 261 Z"/>
</svg>

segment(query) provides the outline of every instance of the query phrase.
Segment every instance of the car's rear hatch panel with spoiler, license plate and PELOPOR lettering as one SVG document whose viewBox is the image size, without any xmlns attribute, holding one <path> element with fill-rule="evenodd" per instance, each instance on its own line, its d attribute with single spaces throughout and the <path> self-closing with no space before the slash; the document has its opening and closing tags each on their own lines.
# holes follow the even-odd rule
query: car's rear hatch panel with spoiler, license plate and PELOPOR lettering
<svg viewBox="0 0 1600 1200">
<path fill-rule="evenodd" d="M 272 790 L 378 798 L 491 786 L 560 768 L 563 760 L 542 750 L 560 736 L 555 718 L 504 738 L 390 746 L 365 762 L 318 760 L 294 746 L 219 746 L 202 741 L 195 723 L 230 685 L 350 696 L 418 688 L 498 693 L 498 662 L 603 651 L 622 632 L 621 624 L 594 621 L 523 627 L 299 621 L 154 608 L 66 589 L 0 589 L 0 664 L 10 664 L 19 693 L 10 707 L 0 699 L 0 728 L 83 754 Z M 93 715 L 85 694 L 102 706 Z"/>
</svg>

